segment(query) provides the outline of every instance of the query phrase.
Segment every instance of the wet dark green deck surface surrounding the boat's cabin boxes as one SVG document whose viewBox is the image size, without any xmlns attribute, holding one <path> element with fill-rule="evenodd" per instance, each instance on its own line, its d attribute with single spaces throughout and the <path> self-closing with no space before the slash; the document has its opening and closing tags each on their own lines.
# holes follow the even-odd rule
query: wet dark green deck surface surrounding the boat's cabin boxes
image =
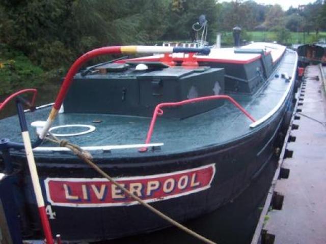
<svg viewBox="0 0 326 244">
<path fill-rule="evenodd" d="M 286 82 L 281 77 L 281 74 L 287 73 L 291 76 L 294 65 L 295 52 L 287 50 L 275 71 L 279 77 L 272 75 L 267 85 L 254 96 L 230 96 L 258 120 L 273 110 L 282 100 L 290 82 Z M 47 107 L 38 109 L 33 113 L 26 113 L 28 123 L 30 124 L 36 120 L 45 120 L 49 110 L 50 107 Z M 96 120 L 101 121 L 101 123 L 93 123 Z M 10 138 L 11 141 L 15 142 L 21 141 L 19 127 L 12 126 L 14 124 L 18 125 L 16 116 L 4 119 L 2 121 L 0 137 Z M 65 138 L 79 146 L 140 144 L 145 142 L 150 118 L 106 114 L 87 114 L 85 116 L 85 114 L 62 113 L 58 115 L 53 126 L 72 124 L 93 125 L 96 127 L 96 130 L 89 134 Z M 218 145 L 232 141 L 255 130 L 250 128 L 251 124 L 252 121 L 248 117 L 244 116 L 240 110 L 226 101 L 225 105 L 220 108 L 183 120 L 167 119 L 164 116 L 158 117 L 151 142 L 164 143 L 161 150 L 156 151 L 155 154 L 180 153 L 181 151 L 191 151 L 209 145 Z M 68 131 L 69 133 L 72 132 L 66 129 L 60 130 L 60 132 L 53 131 L 53 133 L 68 133 Z M 32 138 L 35 139 L 34 128 L 30 128 L 30 133 Z M 42 147 L 50 147 L 46 149 L 49 151 L 52 150 L 51 147 L 55 146 L 48 142 L 42 145 Z M 38 149 L 40 148 L 36 148 L 36 150 Z M 115 150 L 114 153 L 112 151 L 110 157 L 119 157 L 122 154 L 134 152 L 137 152 L 134 148 Z M 103 151 L 97 150 L 97 153 L 101 154 Z"/>
</svg>

